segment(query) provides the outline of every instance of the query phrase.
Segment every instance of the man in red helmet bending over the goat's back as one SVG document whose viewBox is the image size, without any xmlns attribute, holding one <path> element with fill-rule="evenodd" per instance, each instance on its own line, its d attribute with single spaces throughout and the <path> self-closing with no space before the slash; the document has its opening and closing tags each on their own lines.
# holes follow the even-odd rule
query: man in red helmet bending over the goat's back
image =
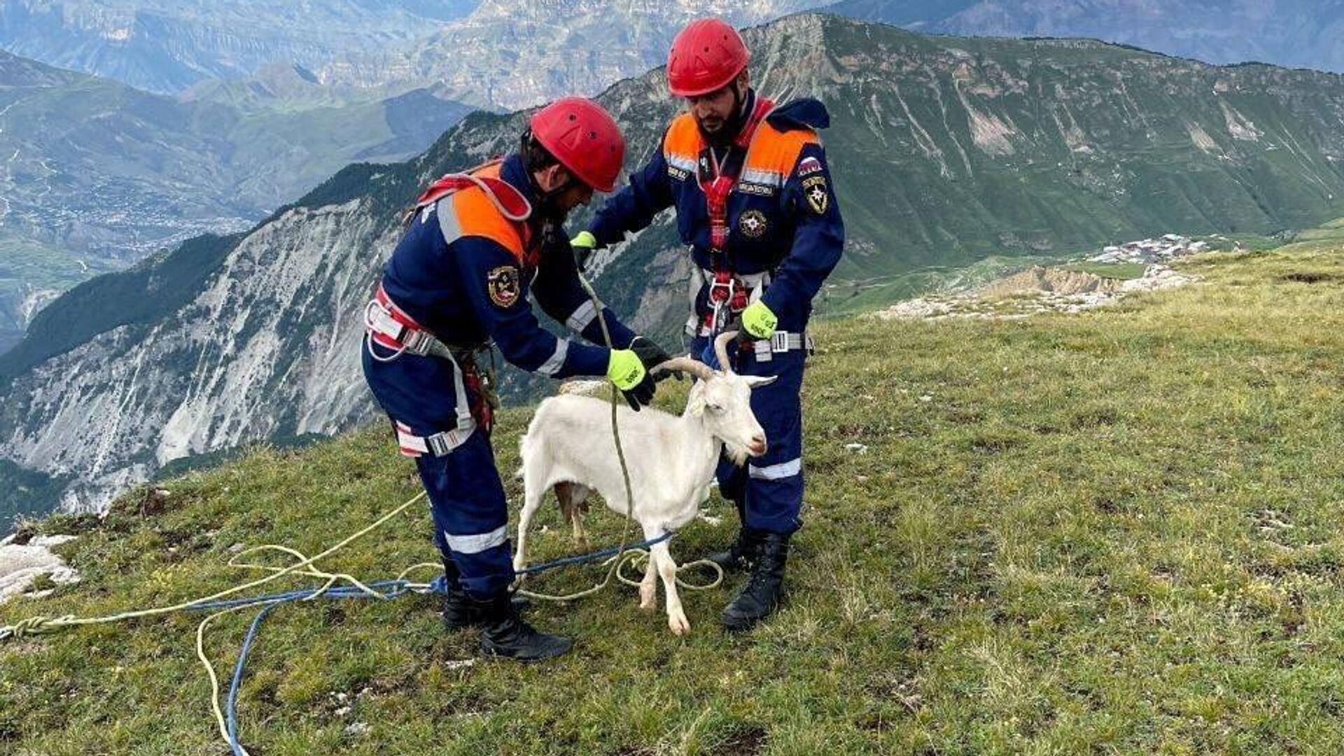
<svg viewBox="0 0 1344 756">
<path fill-rule="evenodd" d="M 478 626 L 488 655 L 543 659 L 570 640 L 519 619 L 508 510 L 489 432 L 496 401 L 477 355 L 499 347 L 517 367 L 606 375 L 636 410 L 653 398 L 648 369 L 668 359 L 606 308 L 614 348 L 583 292 L 563 222 L 612 191 L 625 156 L 616 121 L 566 97 L 532 116 L 519 152 L 438 179 L 406 214 L 406 231 L 364 311 L 364 377 L 415 457 L 444 556 L 444 623 Z M 554 336 L 528 305 L 591 346 Z"/>
</svg>

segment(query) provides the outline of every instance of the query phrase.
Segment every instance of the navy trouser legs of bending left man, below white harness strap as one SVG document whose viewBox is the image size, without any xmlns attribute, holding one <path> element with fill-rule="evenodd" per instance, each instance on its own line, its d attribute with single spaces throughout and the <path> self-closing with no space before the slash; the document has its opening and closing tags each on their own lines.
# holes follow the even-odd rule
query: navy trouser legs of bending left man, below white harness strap
<svg viewBox="0 0 1344 756">
<path fill-rule="evenodd" d="M 461 585 L 485 599 L 513 582 L 508 503 L 489 437 L 473 432 L 450 453 L 415 457 L 429 494 L 434 545 L 461 572 Z"/>
</svg>

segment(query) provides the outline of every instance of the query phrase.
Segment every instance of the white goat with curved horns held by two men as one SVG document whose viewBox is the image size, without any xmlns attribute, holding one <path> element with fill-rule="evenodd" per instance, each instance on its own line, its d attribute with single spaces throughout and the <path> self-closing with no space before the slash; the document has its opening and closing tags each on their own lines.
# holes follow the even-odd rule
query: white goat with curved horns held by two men
<svg viewBox="0 0 1344 756">
<path fill-rule="evenodd" d="M 751 389 L 774 378 L 738 375 L 728 367 L 727 344 L 735 336 L 727 332 L 714 342 L 723 370 L 711 370 L 688 356 L 655 369 L 698 378 L 680 417 L 653 408 L 638 413 L 617 408 L 621 445 L 634 492 L 630 517 L 644 529 L 645 538 L 675 531 L 695 518 L 710 494 L 710 482 L 724 447 L 739 465 L 747 456 L 761 456 L 766 451 L 765 430 L 751 412 Z M 573 394 L 551 397 L 536 409 L 520 443 L 524 503 L 513 569 L 527 564 L 528 525 L 548 488 L 555 488 L 560 510 L 574 523 L 577 537 L 582 537 L 579 510 L 586 510 L 585 500 L 594 490 L 607 507 L 625 514 L 625 483 L 612 437 L 610 412 L 605 400 Z M 689 632 L 691 623 L 676 592 L 676 562 L 667 541 L 649 549 L 649 564 L 640 581 L 641 609 L 656 605 L 655 574 L 663 577 L 668 627 L 677 635 Z"/>
</svg>

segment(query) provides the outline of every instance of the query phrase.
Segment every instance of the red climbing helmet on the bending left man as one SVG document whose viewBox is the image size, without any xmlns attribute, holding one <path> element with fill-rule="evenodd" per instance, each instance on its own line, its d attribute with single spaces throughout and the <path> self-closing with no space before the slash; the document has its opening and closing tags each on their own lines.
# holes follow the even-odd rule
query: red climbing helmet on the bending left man
<svg viewBox="0 0 1344 756">
<path fill-rule="evenodd" d="M 562 97 L 538 110 L 530 126 L 536 141 L 578 180 L 597 191 L 616 188 L 625 137 L 601 105 L 586 97 Z"/>
</svg>

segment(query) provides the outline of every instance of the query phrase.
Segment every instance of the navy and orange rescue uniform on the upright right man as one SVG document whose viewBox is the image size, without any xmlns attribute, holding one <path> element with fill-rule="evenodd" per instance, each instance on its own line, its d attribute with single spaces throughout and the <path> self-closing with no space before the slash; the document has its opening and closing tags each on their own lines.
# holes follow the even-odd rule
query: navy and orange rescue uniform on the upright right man
<svg viewBox="0 0 1344 756">
<path fill-rule="evenodd" d="M 746 112 L 754 106 L 751 93 Z M 844 248 L 844 223 L 814 130 L 827 125 L 821 102 L 796 100 L 763 118 L 746 151 L 710 149 L 694 117 L 681 114 L 668 126 L 661 149 L 589 227 L 599 245 L 610 245 L 648 226 L 659 211 L 676 207 L 677 231 L 691 248 L 703 284 L 687 330 L 694 336 L 692 355 L 706 362 L 712 363 L 708 344 L 716 327 L 710 287 L 715 272 L 731 272 L 778 316 L 774 339 L 739 350 L 735 365 L 741 374 L 778 377 L 751 394 L 769 452 L 745 469 L 727 461 L 719 468 L 720 491 L 738 503 L 743 523 L 774 533 L 801 526 L 804 334 L 812 299 Z M 737 183 L 726 204 L 726 243 L 715 249 L 702 182 L 724 174 L 735 175 Z"/>
</svg>

